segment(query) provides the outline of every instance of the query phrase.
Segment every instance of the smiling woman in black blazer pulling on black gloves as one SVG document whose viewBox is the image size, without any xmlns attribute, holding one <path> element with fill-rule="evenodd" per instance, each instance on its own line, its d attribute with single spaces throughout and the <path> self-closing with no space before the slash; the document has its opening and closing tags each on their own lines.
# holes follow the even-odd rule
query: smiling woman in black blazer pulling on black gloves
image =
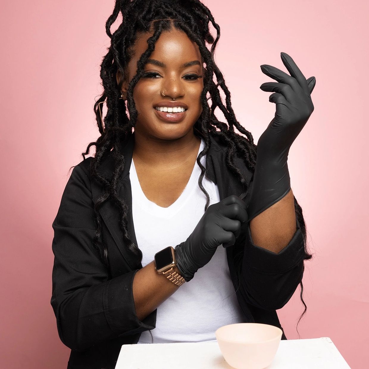
<svg viewBox="0 0 369 369">
<path fill-rule="evenodd" d="M 302 300 L 311 258 L 287 155 L 313 111 L 314 77 L 287 54 L 291 75 L 265 66 L 278 82 L 262 89 L 277 111 L 256 159 L 214 62 L 220 28 L 207 7 L 117 1 L 106 29 L 101 136 L 74 167 L 52 225 L 51 304 L 72 349 L 68 368 L 114 368 L 123 344 L 215 341 L 226 324 L 282 328 L 275 310 L 299 283 Z"/>
</svg>

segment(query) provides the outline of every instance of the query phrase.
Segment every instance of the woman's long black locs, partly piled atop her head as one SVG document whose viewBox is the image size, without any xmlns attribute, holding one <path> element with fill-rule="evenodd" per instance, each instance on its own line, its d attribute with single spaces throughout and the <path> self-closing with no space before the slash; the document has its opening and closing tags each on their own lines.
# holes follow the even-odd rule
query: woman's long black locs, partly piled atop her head
<svg viewBox="0 0 369 369">
<path fill-rule="evenodd" d="M 110 27 L 117 19 L 119 13 L 122 14 L 123 21 L 117 30 L 111 34 Z M 209 22 L 217 31 L 217 36 L 214 37 L 209 31 Z M 108 268 L 108 250 L 99 239 L 101 236 L 102 220 L 99 214 L 99 208 L 107 200 L 111 200 L 120 208 L 120 226 L 123 230 L 123 238 L 129 252 L 137 257 L 137 265 L 142 261 L 142 252 L 138 246 L 130 239 L 130 234 L 127 228 L 127 213 L 128 207 L 123 199 L 120 199 L 117 192 L 118 179 L 125 166 L 125 158 L 121 155 L 118 149 L 125 138 L 132 133 L 137 120 L 137 110 L 133 100 L 133 89 L 138 80 L 144 74 L 144 65 L 152 54 L 155 48 L 155 42 L 163 31 L 170 31 L 172 28 L 181 30 L 199 46 L 204 72 L 204 88 L 201 93 L 201 104 L 203 111 L 199 119 L 194 124 L 194 134 L 200 136 L 205 141 L 205 148 L 200 152 L 197 158 L 197 164 L 201 169 L 199 177 L 199 187 L 206 195 L 207 201 L 204 211 L 207 210 L 210 198 L 202 185 L 205 168 L 200 162 L 200 159 L 208 153 L 210 148 L 210 136 L 218 137 L 221 142 L 227 146 L 226 161 L 232 172 L 238 176 L 244 191 L 239 197 L 244 200 L 248 192 L 248 183 L 240 170 L 235 166 L 233 157 L 239 155 L 248 166 L 252 173 L 255 172 L 256 163 L 256 145 L 251 132 L 247 131 L 241 124 L 238 123 L 234 111 L 231 106 L 231 94 L 225 85 L 223 74 L 214 62 L 214 51 L 220 37 L 220 27 L 213 18 L 210 10 L 199 0 L 116 0 L 113 9 L 113 14 L 110 15 L 106 22 L 106 33 L 111 38 L 111 45 L 107 54 L 104 56 L 101 63 L 100 77 L 103 85 L 103 93 L 94 104 L 94 112 L 96 114 L 97 126 L 99 128 L 100 137 L 96 142 L 91 142 L 86 152 L 82 153 L 83 159 L 89 154 L 91 146 L 96 146 L 96 154 L 92 160 L 92 177 L 103 184 L 104 193 L 96 201 L 94 206 L 95 222 L 97 230 L 93 239 L 93 246 L 99 252 L 101 261 Z M 148 38 L 148 48 L 141 55 L 137 62 L 137 74 L 128 84 L 127 90 L 127 106 L 125 100 L 120 99 L 121 85 L 123 81 L 117 84 L 117 71 L 121 75 L 127 73 L 128 62 L 131 60 L 135 45 L 135 40 L 138 34 L 153 32 Z M 151 34 L 150 33 L 150 34 Z M 210 50 L 206 43 L 211 45 Z M 213 80 L 215 74 L 217 83 Z M 219 87 L 225 94 L 225 104 L 220 96 Z M 208 95 L 208 97 L 207 97 Z M 211 106 L 208 105 L 208 100 L 211 99 Z M 101 120 L 99 104 L 106 102 L 107 113 L 104 117 L 104 125 Z M 214 114 L 215 108 L 219 108 L 223 113 L 228 124 L 219 121 Z M 129 117 L 127 115 L 127 110 Z M 234 131 L 237 128 L 242 135 Z M 114 159 L 115 167 L 111 179 L 107 179 L 97 173 L 102 160 L 111 151 Z M 300 223 L 301 232 L 304 239 L 305 256 L 304 260 L 311 259 L 312 255 L 308 254 L 306 248 L 306 224 L 304 221 L 302 209 L 294 197 L 294 206 L 296 210 L 297 220 Z M 239 252 L 235 255 L 234 264 L 237 271 L 238 287 L 241 273 L 242 254 Z M 305 307 L 300 319 L 306 313 L 306 304 L 302 298 L 303 284 L 300 282 L 301 293 L 300 298 Z M 299 322 L 300 322 L 299 319 Z M 298 323 L 299 323 L 298 322 Z M 297 324 L 298 324 L 297 323 Z M 151 333 L 151 332 L 150 332 Z"/>
</svg>

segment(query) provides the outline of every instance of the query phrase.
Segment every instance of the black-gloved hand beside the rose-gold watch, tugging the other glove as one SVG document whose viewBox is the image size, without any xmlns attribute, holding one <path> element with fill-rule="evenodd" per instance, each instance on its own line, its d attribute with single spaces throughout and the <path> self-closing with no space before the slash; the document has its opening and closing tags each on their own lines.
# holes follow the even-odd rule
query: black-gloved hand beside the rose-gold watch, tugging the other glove
<svg viewBox="0 0 369 369">
<path fill-rule="evenodd" d="M 186 282 L 210 261 L 220 244 L 235 244 L 247 220 L 246 204 L 235 195 L 207 208 L 186 241 L 175 247 L 177 267 Z"/>
</svg>

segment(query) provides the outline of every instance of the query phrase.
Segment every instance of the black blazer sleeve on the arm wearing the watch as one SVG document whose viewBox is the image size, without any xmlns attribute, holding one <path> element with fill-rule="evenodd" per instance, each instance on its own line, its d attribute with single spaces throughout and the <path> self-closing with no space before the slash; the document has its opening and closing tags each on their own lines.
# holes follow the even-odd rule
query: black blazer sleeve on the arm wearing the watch
<svg viewBox="0 0 369 369">
<path fill-rule="evenodd" d="M 109 279 L 92 246 L 93 206 L 89 176 L 75 166 L 52 224 L 51 305 L 61 341 L 76 351 L 154 329 L 156 321 L 154 312 L 143 321 L 136 315 L 132 283 L 138 269 Z"/>
</svg>

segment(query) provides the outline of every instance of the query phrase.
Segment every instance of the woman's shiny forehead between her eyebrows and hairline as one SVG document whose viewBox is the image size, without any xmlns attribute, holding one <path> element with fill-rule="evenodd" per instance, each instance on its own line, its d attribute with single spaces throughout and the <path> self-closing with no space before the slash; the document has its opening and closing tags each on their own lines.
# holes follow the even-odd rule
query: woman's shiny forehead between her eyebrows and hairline
<svg viewBox="0 0 369 369">
<path fill-rule="evenodd" d="M 147 39 L 150 33 L 141 34 L 137 37 L 134 59 L 135 63 L 141 57 L 142 53 L 148 47 Z M 163 31 L 155 42 L 155 49 L 149 56 L 150 59 L 157 59 L 167 66 L 179 66 L 184 62 L 199 60 L 201 63 L 201 54 L 199 46 L 196 42 L 189 39 L 186 33 L 172 29 L 171 31 Z"/>
</svg>

